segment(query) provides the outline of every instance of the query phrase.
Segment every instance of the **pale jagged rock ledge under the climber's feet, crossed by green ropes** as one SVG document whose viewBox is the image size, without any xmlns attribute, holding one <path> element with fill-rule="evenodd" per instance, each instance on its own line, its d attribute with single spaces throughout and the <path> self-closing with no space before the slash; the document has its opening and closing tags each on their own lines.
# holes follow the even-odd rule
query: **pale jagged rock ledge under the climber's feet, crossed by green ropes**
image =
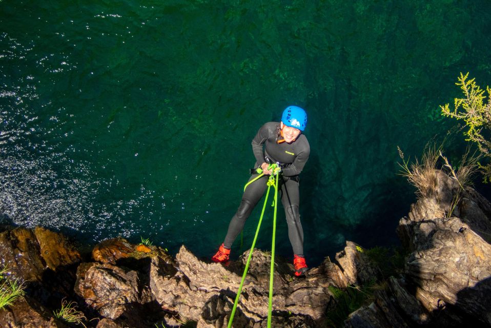
<svg viewBox="0 0 491 328">
<path fill-rule="evenodd" d="M 174 275 L 159 274 L 169 272 L 168 264 L 158 257 L 153 259 L 152 292 L 162 308 L 191 318 L 198 326 L 227 326 L 248 253 L 243 254 L 242 262 L 224 267 L 219 263 L 204 263 L 181 247 L 176 256 L 178 271 Z M 234 325 L 262 327 L 267 323 L 270 262 L 269 253 L 254 250 Z M 328 287 L 341 280 L 339 271 L 332 269 L 334 264 L 328 262 L 298 279 L 292 277 L 291 264 L 275 258 L 272 321 L 277 322 L 276 326 L 313 327 L 315 320 L 323 317 L 332 300 Z M 333 272 L 334 278 L 326 275 Z"/>
</svg>

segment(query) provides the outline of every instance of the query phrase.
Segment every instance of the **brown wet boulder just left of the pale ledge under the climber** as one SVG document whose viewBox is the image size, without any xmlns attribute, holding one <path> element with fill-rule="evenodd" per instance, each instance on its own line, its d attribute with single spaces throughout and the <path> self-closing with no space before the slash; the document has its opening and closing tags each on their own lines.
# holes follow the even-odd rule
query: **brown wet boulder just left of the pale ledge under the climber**
<svg viewBox="0 0 491 328">
<path fill-rule="evenodd" d="M 80 264 L 74 290 L 92 309 L 110 319 L 129 312 L 134 304 L 152 301 L 150 291 L 140 285 L 136 271 L 111 264 Z"/>
</svg>

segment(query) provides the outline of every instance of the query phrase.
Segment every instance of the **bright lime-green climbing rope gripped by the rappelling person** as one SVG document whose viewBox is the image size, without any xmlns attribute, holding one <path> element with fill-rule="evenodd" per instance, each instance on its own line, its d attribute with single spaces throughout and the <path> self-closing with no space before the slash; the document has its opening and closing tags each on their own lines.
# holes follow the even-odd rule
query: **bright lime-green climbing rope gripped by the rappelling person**
<svg viewBox="0 0 491 328">
<path fill-rule="evenodd" d="M 266 183 L 266 185 L 268 186 L 268 190 L 266 192 L 266 198 L 264 199 L 264 204 L 262 206 L 261 216 L 259 217 L 259 222 L 257 223 L 256 235 L 254 236 L 254 240 L 252 241 L 251 250 L 249 251 L 249 257 L 247 259 L 247 262 L 245 262 L 244 273 L 242 274 L 242 280 L 240 280 L 239 290 L 237 291 L 237 296 L 235 297 L 234 307 L 232 308 L 232 312 L 230 313 L 230 319 L 229 319 L 229 324 L 227 325 L 227 328 L 232 327 L 232 322 L 234 320 L 235 310 L 237 309 L 237 304 L 239 303 L 240 294 L 242 293 L 242 286 L 244 284 L 245 276 L 247 275 L 247 271 L 249 269 L 249 263 L 251 262 L 252 252 L 254 251 L 254 246 L 256 245 L 257 236 L 259 234 L 259 228 L 261 227 L 262 217 L 264 216 L 264 210 L 266 209 L 266 204 L 268 203 L 268 196 L 270 193 L 270 189 L 271 189 L 271 187 L 274 187 L 275 188 L 275 195 L 274 195 L 274 201 L 273 201 L 273 206 L 274 206 L 273 240 L 272 240 L 272 245 L 271 245 L 271 272 L 270 272 L 270 290 L 269 290 L 269 299 L 268 299 L 268 328 L 271 328 L 271 313 L 273 310 L 273 307 L 272 307 L 272 304 L 273 304 L 273 277 L 274 277 L 274 263 L 275 263 L 276 210 L 277 210 L 277 203 L 278 203 L 278 177 L 279 177 L 279 173 L 281 172 L 281 168 L 279 166 L 279 163 L 274 163 L 274 164 L 270 164 L 268 166 L 268 170 L 273 170 L 273 174 L 268 178 L 268 182 Z M 249 186 L 251 184 L 251 182 L 256 181 L 257 179 L 259 179 L 260 177 L 262 177 L 264 175 L 264 173 L 262 173 L 262 170 L 260 168 L 257 169 L 257 173 L 259 173 L 259 176 L 257 176 L 256 178 L 254 178 L 251 181 L 249 181 L 248 183 L 246 183 L 246 185 L 244 187 L 244 191 L 245 191 L 245 188 L 247 188 L 247 186 Z"/>
</svg>

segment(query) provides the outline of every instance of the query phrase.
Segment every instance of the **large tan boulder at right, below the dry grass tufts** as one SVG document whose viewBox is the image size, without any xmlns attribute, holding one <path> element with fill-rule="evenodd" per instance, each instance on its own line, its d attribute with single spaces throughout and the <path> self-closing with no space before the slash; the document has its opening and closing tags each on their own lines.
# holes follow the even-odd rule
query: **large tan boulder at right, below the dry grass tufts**
<svg viewBox="0 0 491 328">
<path fill-rule="evenodd" d="M 474 231 L 490 229 L 485 213 L 491 206 L 469 188 L 457 192 L 455 180 L 437 172 L 443 187 L 419 199 L 399 222 L 398 234 L 412 251 L 405 274 L 429 313 L 447 308 L 454 321 L 477 318 L 491 325 L 491 245 Z M 448 213 L 460 213 L 468 223 L 446 218 Z"/>
</svg>

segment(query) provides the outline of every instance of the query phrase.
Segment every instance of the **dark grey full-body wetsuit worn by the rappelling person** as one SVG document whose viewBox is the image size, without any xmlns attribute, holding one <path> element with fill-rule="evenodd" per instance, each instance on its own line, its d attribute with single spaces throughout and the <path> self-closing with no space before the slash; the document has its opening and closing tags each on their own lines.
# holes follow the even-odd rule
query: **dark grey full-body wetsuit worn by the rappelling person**
<svg viewBox="0 0 491 328">
<path fill-rule="evenodd" d="M 282 139 L 279 131 L 280 124 L 278 122 L 268 122 L 257 132 L 252 140 L 252 150 L 256 157 L 255 168 L 260 167 L 264 162 L 280 163 L 281 203 L 287 217 L 288 237 L 294 254 L 303 256 L 303 229 L 299 213 L 298 175 L 309 159 L 310 146 L 309 141 L 303 134 L 300 134 L 291 144 L 287 142 L 278 144 L 277 140 Z M 258 174 L 253 174 L 249 181 L 257 176 Z M 247 220 L 266 190 L 268 178 L 269 176 L 263 176 L 252 182 L 245 189 L 240 206 L 230 221 L 227 236 L 223 241 L 226 248 L 230 249 L 232 247 L 235 238 L 242 231 L 245 220 Z"/>
</svg>

